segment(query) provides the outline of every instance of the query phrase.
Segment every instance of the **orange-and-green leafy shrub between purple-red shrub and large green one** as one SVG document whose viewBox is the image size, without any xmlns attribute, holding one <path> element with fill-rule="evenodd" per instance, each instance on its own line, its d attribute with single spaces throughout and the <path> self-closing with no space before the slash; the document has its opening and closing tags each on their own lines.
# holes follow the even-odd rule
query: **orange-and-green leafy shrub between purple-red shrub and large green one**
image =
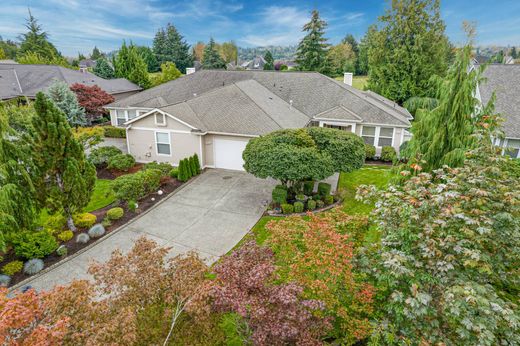
<svg viewBox="0 0 520 346">
<path fill-rule="evenodd" d="M 283 264 L 280 277 L 301 284 L 303 297 L 324 303 L 322 315 L 334 326 L 330 336 L 353 344 L 371 331 L 374 288 L 356 277 L 352 265 L 355 232 L 362 235 L 367 230 L 367 219 L 339 210 L 309 217 L 309 221 L 294 216 L 269 223 L 268 245 Z"/>
</svg>

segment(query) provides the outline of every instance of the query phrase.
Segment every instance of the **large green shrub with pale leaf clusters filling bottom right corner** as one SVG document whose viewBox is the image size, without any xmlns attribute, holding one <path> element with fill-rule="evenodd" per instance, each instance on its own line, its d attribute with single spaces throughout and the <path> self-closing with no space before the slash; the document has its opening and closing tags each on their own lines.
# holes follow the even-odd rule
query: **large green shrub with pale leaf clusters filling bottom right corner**
<svg viewBox="0 0 520 346">
<path fill-rule="evenodd" d="M 467 157 L 462 168 L 358 191 L 377 201 L 382 232 L 372 258 L 384 316 L 377 344 L 520 343 L 519 174 L 486 148 Z"/>
</svg>

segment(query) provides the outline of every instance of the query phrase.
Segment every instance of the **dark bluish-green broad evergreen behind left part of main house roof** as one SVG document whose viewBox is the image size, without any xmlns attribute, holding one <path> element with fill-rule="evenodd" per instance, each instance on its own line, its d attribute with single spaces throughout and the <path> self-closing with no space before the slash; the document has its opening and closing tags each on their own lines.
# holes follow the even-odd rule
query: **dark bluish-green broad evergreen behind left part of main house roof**
<svg viewBox="0 0 520 346">
<path fill-rule="evenodd" d="M 159 65 L 167 61 L 174 62 L 182 73 L 186 73 L 186 67 L 193 66 L 189 44 L 170 23 L 166 25 L 166 29 L 161 28 L 155 34 L 153 52 Z"/>
</svg>

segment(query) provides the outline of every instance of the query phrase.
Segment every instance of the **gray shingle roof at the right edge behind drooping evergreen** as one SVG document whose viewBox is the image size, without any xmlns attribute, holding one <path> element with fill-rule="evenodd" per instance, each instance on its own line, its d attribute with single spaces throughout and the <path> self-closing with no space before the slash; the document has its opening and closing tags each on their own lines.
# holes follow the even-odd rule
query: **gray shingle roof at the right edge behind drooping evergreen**
<svg viewBox="0 0 520 346">
<path fill-rule="evenodd" d="M 479 85 L 482 101 L 487 103 L 495 92 L 495 110 L 505 118 L 506 137 L 520 138 L 520 65 L 492 64 L 484 77 Z"/>
</svg>

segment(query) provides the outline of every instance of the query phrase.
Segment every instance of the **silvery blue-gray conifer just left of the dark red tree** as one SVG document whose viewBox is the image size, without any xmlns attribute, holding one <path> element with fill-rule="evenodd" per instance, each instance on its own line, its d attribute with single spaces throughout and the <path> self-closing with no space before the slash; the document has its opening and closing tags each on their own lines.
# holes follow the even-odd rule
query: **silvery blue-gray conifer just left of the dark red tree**
<svg viewBox="0 0 520 346">
<path fill-rule="evenodd" d="M 55 80 L 45 94 L 65 114 L 70 126 L 78 127 L 87 123 L 85 110 L 79 105 L 76 94 L 67 83 Z"/>
</svg>

